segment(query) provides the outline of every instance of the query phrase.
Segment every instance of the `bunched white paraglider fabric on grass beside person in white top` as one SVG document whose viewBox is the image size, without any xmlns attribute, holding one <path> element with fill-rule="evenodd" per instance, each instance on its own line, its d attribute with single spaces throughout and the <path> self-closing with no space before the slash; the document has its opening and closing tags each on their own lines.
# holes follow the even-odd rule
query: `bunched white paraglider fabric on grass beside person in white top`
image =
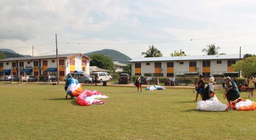
<svg viewBox="0 0 256 140">
<path fill-rule="evenodd" d="M 204 111 L 224 111 L 227 105 L 219 102 L 218 98 L 214 95 L 209 100 L 197 102 L 197 109 Z"/>
</svg>

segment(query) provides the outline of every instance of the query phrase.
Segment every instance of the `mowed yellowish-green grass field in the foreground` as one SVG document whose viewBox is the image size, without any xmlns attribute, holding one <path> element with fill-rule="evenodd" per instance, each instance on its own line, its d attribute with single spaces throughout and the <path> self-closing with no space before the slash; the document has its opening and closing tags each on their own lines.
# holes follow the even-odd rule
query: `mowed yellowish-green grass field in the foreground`
<svg viewBox="0 0 256 140">
<path fill-rule="evenodd" d="M 256 111 L 196 110 L 192 89 L 136 92 L 83 86 L 109 96 L 103 105 L 65 100 L 64 85 L 1 84 L 1 140 L 254 140 Z M 247 92 L 241 93 L 245 98 Z M 219 100 L 222 91 L 217 92 Z M 255 101 L 255 100 L 253 100 Z"/>
</svg>

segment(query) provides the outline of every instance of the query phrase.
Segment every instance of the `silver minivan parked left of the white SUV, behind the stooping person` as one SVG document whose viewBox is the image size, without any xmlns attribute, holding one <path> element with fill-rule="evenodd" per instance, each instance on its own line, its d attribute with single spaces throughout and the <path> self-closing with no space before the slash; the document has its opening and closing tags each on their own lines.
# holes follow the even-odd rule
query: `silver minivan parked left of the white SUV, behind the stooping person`
<svg viewBox="0 0 256 140">
<path fill-rule="evenodd" d="M 86 84 L 92 83 L 92 78 L 90 74 L 85 74 L 85 73 L 69 73 L 69 74 L 72 75 L 72 77 L 76 79 L 79 83 L 86 83 Z M 67 76 L 63 78 L 63 81 L 67 81 Z"/>
</svg>

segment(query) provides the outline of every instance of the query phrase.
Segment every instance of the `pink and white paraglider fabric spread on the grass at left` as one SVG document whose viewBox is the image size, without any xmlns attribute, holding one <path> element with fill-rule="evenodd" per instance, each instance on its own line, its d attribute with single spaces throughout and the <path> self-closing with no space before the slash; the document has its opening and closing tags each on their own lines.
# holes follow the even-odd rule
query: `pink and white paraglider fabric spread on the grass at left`
<svg viewBox="0 0 256 140">
<path fill-rule="evenodd" d="M 97 98 L 109 98 L 108 96 L 102 95 L 97 90 L 83 90 L 76 97 L 76 101 L 79 105 L 88 106 L 91 104 L 104 104 L 105 101 L 98 100 Z"/>
</svg>

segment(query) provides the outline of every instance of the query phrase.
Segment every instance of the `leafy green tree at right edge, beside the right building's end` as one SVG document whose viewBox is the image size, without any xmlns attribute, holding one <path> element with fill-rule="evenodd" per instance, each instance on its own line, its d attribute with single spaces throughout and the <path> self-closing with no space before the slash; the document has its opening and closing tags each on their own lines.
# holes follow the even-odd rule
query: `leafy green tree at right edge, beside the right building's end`
<svg viewBox="0 0 256 140">
<path fill-rule="evenodd" d="M 242 75 L 249 77 L 256 73 L 256 56 L 247 57 L 231 66 L 235 71 L 242 71 Z"/>
</svg>

